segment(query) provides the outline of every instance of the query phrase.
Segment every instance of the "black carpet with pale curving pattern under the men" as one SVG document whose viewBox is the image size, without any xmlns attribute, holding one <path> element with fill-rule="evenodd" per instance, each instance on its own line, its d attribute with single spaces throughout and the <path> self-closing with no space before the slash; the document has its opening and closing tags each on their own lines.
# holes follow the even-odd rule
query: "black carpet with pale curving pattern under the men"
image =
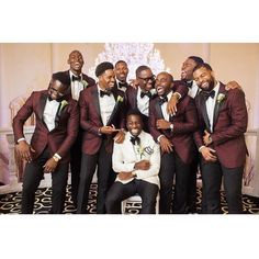
<svg viewBox="0 0 259 259">
<path fill-rule="evenodd" d="M 71 202 L 70 196 L 70 185 L 67 187 L 67 196 L 65 204 L 65 214 L 74 214 L 75 207 Z M 198 213 L 201 211 L 201 189 L 196 189 L 196 205 Z M 34 211 L 35 214 L 48 214 L 50 210 L 50 195 L 52 190 L 49 188 L 38 189 L 36 192 Z M 21 212 L 21 192 L 0 194 L 0 214 L 19 214 Z M 223 213 L 227 213 L 227 204 L 224 196 L 224 192 L 222 192 L 222 207 Z M 259 198 L 243 195 L 243 205 L 244 211 L 247 214 L 258 214 L 259 213 Z M 127 203 L 126 205 L 126 214 L 138 214 L 140 209 L 140 203 Z M 87 211 L 89 214 L 95 214 L 97 211 L 97 184 L 91 184 L 90 193 L 89 193 L 89 203 Z"/>
</svg>

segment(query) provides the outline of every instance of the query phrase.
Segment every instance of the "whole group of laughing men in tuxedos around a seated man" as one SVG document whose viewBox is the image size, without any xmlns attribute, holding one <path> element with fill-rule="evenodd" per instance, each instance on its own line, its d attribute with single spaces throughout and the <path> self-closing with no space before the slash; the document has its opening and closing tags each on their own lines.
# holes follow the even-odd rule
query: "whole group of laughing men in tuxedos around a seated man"
<svg viewBox="0 0 259 259">
<path fill-rule="evenodd" d="M 69 164 L 78 214 L 87 213 L 95 171 L 99 214 L 121 213 L 121 202 L 135 193 L 144 214 L 155 213 L 158 195 L 161 214 L 195 213 L 198 168 L 202 212 L 221 213 L 223 179 L 228 212 L 243 213 L 247 110 L 237 83 L 219 82 L 196 56 L 183 63 L 180 80 L 142 65 L 131 85 L 124 60 L 99 64 L 98 82 L 82 74 L 79 50 L 69 54 L 68 64 L 13 120 L 16 150 L 26 160 L 22 213 L 33 213 L 45 172 L 52 173 L 50 213 L 63 213 Z M 36 125 L 27 144 L 23 124 L 33 112 Z"/>
</svg>

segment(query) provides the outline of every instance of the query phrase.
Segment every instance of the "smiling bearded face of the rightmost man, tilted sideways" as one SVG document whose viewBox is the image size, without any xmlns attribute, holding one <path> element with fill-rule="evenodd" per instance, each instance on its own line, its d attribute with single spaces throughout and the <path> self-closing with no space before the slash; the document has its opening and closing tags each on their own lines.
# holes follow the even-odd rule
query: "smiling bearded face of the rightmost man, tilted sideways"
<svg viewBox="0 0 259 259">
<path fill-rule="evenodd" d="M 213 71 L 201 67 L 193 72 L 193 78 L 199 88 L 204 91 L 211 91 L 215 86 L 215 78 Z"/>
</svg>

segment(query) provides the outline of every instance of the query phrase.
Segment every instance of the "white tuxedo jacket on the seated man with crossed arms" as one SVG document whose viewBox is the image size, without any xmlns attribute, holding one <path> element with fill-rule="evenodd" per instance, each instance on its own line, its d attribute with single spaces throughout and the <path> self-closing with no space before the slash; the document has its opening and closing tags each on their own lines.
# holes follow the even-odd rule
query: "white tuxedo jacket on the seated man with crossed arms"
<svg viewBox="0 0 259 259">
<path fill-rule="evenodd" d="M 112 155 L 112 167 L 115 172 L 133 171 L 135 162 L 140 160 L 149 160 L 150 168 L 148 170 L 135 170 L 136 179 L 140 179 L 159 187 L 158 173 L 160 170 L 160 146 L 156 144 L 150 134 L 142 132 L 138 137 L 140 138 L 139 145 L 133 145 L 131 142 L 131 133 L 127 132 L 125 139 L 122 144 L 114 143 Z M 133 180 L 120 180 L 122 183 L 128 183 Z"/>
</svg>

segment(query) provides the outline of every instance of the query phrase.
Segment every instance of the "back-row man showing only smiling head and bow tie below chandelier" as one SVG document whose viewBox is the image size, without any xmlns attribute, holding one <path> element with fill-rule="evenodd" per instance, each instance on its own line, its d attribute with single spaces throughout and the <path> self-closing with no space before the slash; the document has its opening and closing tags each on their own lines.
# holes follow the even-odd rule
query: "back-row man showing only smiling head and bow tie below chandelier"
<svg viewBox="0 0 259 259">
<path fill-rule="evenodd" d="M 128 67 L 126 61 L 119 60 L 114 67 L 115 72 L 115 83 L 114 89 L 117 88 L 119 90 L 125 92 L 130 85 L 127 83 L 127 75 L 128 75 Z"/>
</svg>

